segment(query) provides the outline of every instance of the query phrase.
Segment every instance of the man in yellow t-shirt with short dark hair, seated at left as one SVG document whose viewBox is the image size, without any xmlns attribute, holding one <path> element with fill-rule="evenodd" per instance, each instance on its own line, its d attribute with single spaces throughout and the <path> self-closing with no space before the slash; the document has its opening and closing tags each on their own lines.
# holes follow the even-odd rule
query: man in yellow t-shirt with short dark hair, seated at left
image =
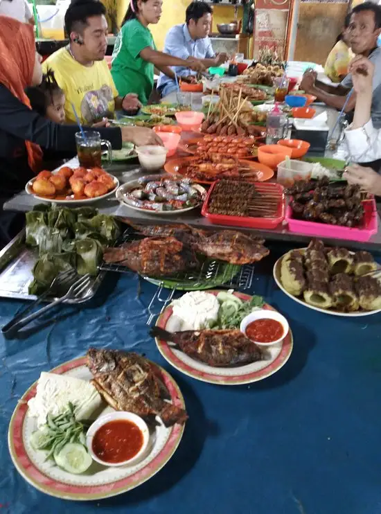
<svg viewBox="0 0 381 514">
<path fill-rule="evenodd" d="M 121 98 L 116 91 L 105 61 L 105 12 L 105 6 L 98 0 L 73 0 L 65 15 L 69 45 L 53 53 L 43 64 L 44 71 L 54 71 L 64 91 L 67 122 L 76 123 L 72 104 L 84 125 L 114 118 L 115 110 L 136 111 L 140 106 L 137 95 Z"/>
</svg>

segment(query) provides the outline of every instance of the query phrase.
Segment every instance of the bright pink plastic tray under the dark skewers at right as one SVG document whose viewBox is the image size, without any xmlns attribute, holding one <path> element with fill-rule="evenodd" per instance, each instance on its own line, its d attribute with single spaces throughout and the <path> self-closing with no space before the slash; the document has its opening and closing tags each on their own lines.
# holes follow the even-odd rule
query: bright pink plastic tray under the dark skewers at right
<svg viewBox="0 0 381 514">
<path fill-rule="evenodd" d="M 306 234 L 308 236 L 319 236 L 329 239 L 347 239 L 351 241 L 368 241 L 373 234 L 378 231 L 378 215 L 375 200 L 365 200 L 364 220 L 360 227 L 350 229 L 339 227 L 338 225 L 328 225 L 325 223 L 315 223 L 310 221 L 296 220 L 290 205 L 287 205 L 285 221 L 288 223 L 290 232 Z"/>
</svg>

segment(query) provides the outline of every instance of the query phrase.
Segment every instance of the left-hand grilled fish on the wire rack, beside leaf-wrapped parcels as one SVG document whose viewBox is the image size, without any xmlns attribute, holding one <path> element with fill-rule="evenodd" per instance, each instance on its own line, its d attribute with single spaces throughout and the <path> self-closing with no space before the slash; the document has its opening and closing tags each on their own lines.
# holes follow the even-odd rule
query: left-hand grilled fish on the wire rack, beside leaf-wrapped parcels
<svg viewBox="0 0 381 514">
<path fill-rule="evenodd" d="M 107 248 L 106 263 L 119 263 L 148 276 L 170 276 L 198 266 L 193 251 L 175 238 L 145 238 Z"/>
</svg>

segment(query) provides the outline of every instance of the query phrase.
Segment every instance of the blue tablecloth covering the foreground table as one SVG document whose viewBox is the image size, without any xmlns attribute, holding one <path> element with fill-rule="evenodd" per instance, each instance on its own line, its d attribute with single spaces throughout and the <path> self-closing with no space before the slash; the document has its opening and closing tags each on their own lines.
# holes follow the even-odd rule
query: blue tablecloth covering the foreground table
<svg viewBox="0 0 381 514">
<path fill-rule="evenodd" d="M 381 512 L 381 315 L 341 318 L 314 312 L 277 289 L 274 247 L 256 267 L 252 292 L 287 316 L 294 351 L 261 382 L 222 387 L 182 375 L 148 336 L 154 286 L 107 275 L 96 298 L 61 308 L 53 323 L 1 340 L 0 514 L 375 514 Z M 0 323 L 21 308 L 0 301 Z M 184 393 L 189 420 L 172 459 L 124 495 L 80 503 L 48 497 L 12 465 L 6 443 L 17 399 L 88 346 L 145 353 Z"/>
</svg>

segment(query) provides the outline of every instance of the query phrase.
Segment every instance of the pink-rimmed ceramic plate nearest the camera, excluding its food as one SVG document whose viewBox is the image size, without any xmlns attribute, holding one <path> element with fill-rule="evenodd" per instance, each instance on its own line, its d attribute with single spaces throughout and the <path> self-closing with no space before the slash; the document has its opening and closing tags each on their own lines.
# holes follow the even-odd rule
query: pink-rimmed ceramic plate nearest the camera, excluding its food
<svg viewBox="0 0 381 514">
<path fill-rule="evenodd" d="M 90 380 L 86 357 L 65 362 L 51 372 Z M 154 364 L 163 384 L 168 389 L 175 405 L 185 407 L 184 398 L 175 380 L 160 366 Z M 62 499 L 94 500 L 125 493 L 153 477 L 175 453 L 184 432 L 184 426 L 166 428 L 162 423 L 150 433 L 149 452 L 132 466 L 107 468 L 93 463 L 83 475 L 71 475 L 55 466 L 53 461 L 44 461 L 46 453 L 35 451 L 30 445 L 30 434 L 37 429 L 35 418 L 28 414 L 27 402 L 36 393 L 35 382 L 24 393 L 12 414 L 8 431 L 8 446 L 12 461 L 29 484 Z M 110 407 L 105 407 L 105 411 Z M 104 414 L 104 412 L 101 414 Z"/>
</svg>

